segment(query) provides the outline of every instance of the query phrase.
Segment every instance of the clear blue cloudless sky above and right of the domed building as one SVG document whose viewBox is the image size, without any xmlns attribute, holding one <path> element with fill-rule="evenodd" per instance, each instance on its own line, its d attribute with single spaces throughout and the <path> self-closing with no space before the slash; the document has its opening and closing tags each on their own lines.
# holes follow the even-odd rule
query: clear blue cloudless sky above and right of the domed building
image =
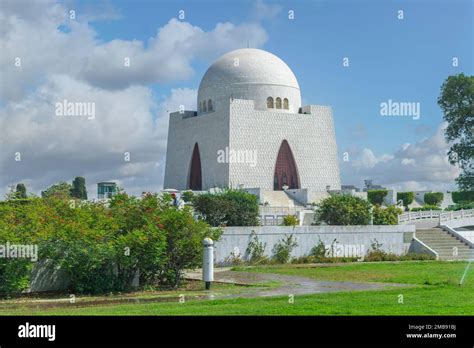
<svg viewBox="0 0 474 348">
<path fill-rule="evenodd" d="M 441 83 L 451 74 L 472 75 L 472 2 L 266 4 L 280 5 L 281 10 L 261 20 L 269 37 L 261 48 L 292 68 L 305 103 L 332 105 L 340 151 L 366 146 L 383 153 L 426 137 L 442 120 L 436 104 Z M 204 30 L 212 30 L 217 22 L 258 19 L 255 1 L 114 1 L 113 5 L 122 18 L 94 23 L 100 39 L 146 41 L 180 10 L 185 11 L 185 20 Z M 400 9 L 403 20 L 397 18 Z M 288 19 L 289 10 L 295 11 L 294 20 Z M 349 67 L 342 66 L 343 57 L 349 58 Z M 453 57 L 458 57 L 458 67 L 452 66 Z M 170 88 L 197 88 L 209 63 L 193 62 L 194 78 L 157 84 L 154 89 L 167 95 Z M 420 119 L 381 117 L 379 105 L 388 99 L 420 102 Z"/>
</svg>

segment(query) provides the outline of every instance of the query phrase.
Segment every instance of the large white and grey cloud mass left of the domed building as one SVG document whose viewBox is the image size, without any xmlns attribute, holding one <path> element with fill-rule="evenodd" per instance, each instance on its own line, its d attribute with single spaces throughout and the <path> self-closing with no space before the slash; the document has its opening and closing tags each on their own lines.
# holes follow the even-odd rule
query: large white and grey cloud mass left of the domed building
<svg viewBox="0 0 474 348">
<path fill-rule="evenodd" d="M 160 189 L 169 112 L 180 105 L 195 110 L 197 91 L 177 88 L 156 96 L 148 85 L 189 78 L 195 60 L 214 59 L 247 41 L 260 46 L 267 39 L 255 23 L 218 23 L 205 31 L 172 19 L 147 42 L 102 42 L 86 21 L 100 16 L 89 12 L 71 21 L 67 15 L 68 8 L 48 1 L 2 2 L 2 196 L 10 184 L 24 182 L 28 191 L 40 193 L 78 175 L 86 177 L 91 197 L 95 183 L 104 180 L 132 194 Z M 130 57 L 128 69 L 124 57 Z M 65 99 L 95 103 L 95 119 L 56 116 L 55 104 Z"/>
</svg>

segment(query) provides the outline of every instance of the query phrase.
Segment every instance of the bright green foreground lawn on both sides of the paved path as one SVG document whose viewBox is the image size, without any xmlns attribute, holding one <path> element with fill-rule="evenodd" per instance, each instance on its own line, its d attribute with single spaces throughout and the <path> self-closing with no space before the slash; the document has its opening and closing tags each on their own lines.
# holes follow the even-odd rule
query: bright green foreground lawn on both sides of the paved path
<svg viewBox="0 0 474 348">
<path fill-rule="evenodd" d="M 411 287 L 252 299 L 194 300 L 82 308 L 0 310 L 1 315 L 474 315 L 474 265 L 465 283 L 466 262 L 357 263 L 331 267 L 269 266 L 251 272 L 300 275 L 313 279 L 394 282 Z M 241 269 L 239 269 L 241 270 Z M 399 303 L 403 295 L 403 304 Z"/>
</svg>

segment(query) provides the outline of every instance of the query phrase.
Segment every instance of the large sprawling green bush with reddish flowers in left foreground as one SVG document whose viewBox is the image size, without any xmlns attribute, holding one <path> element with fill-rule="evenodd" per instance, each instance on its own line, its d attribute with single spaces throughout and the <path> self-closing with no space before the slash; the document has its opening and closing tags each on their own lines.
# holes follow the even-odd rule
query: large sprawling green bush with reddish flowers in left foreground
<svg viewBox="0 0 474 348">
<path fill-rule="evenodd" d="M 185 268 L 201 263 L 202 240 L 220 234 L 167 195 L 120 192 L 108 204 L 52 195 L 0 204 L 0 244 L 36 244 L 40 260 L 66 273 L 71 293 L 128 291 L 138 271 L 143 286 L 176 287 Z M 0 292 L 28 286 L 32 264 L 23 261 L 0 260 Z"/>
</svg>

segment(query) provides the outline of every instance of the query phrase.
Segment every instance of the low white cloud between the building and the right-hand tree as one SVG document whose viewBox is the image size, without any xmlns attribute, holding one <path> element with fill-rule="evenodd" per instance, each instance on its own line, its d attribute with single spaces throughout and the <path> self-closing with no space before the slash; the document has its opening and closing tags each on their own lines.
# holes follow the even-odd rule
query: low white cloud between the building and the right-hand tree
<svg viewBox="0 0 474 348">
<path fill-rule="evenodd" d="M 352 161 L 342 162 L 345 184 L 361 185 L 364 179 L 398 190 L 447 190 L 455 187 L 459 168 L 448 162 L 449 145 L 444 138 L 446 124 L 415 144 L 402 144 L 393 154 L 376 156 L 363 149 Z"/>
</svg>

